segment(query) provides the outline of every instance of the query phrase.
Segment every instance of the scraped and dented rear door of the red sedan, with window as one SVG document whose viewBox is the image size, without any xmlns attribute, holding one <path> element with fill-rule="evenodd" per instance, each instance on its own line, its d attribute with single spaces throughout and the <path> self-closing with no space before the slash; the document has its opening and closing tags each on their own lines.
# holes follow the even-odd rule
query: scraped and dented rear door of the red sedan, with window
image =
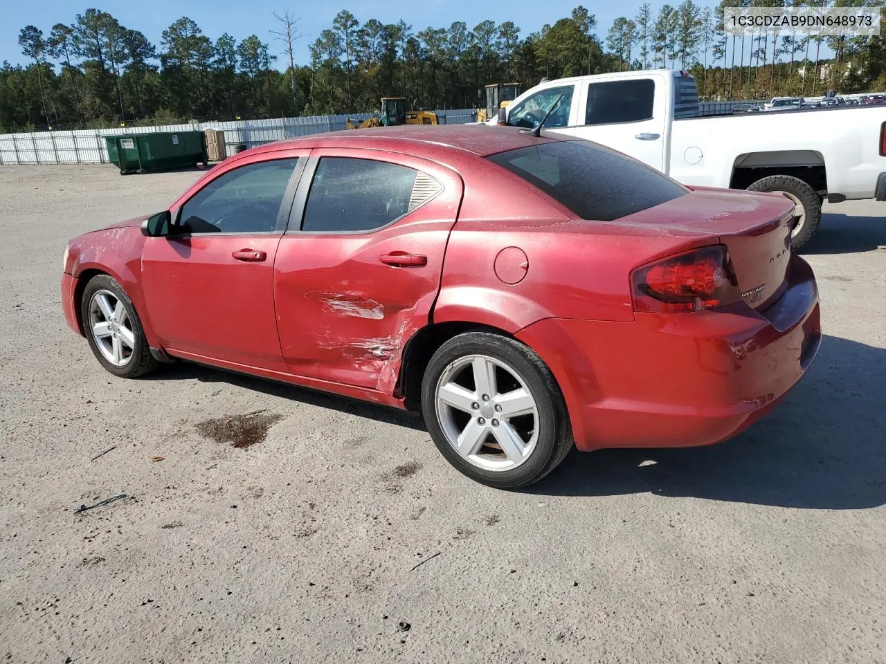
<svg viewBox="0 0 886 664">
<path fill-rule="evenodd" d="M 437 297 L 461 199 L 461 178 L 421 158 L 312 151 L 274 271 L 292 374 L 393 390 L 403 345 Z"/>
</svg>

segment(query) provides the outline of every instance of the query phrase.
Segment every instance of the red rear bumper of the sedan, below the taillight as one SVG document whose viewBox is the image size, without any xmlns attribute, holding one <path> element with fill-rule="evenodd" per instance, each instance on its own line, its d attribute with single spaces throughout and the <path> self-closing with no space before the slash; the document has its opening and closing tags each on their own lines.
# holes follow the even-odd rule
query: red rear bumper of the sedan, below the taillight
<svg viewBox="0 0 886 664">
<path fill-rule="evenodd" d="M 555 374 L 579 450 L 718 443 L 766 414 L 820 346 L 812 268 L 765 312 L 636 313 L 633 322 L 548 319 L 517 337 Z"/>
</svg>

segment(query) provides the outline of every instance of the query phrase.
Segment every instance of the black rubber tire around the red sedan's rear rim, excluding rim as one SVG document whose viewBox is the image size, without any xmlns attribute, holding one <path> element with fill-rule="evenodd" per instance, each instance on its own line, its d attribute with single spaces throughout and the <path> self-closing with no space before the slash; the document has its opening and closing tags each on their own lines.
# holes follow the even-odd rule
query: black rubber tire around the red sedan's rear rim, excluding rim
<svg viewBox="0 0 886 664">
<path fill-rule="evenodd" d="M 538 438 L 530 456 L 517 467 L 495 471 L 475 466 L 447 441 L 437 414 L 437 385 L 452 362 L 469 355 L 486 355 L 515 369 L 535 400 Z M 424 371 L 422 412 L 431 439 L 447 461 L 472 480 L 498 489 L 515 489 L 538 482 L 559 466 L 574 446 L 566 405 L 554 376 L 530 348 L 506 336 L 466 332 L 440 346 Z"/>
</svg>

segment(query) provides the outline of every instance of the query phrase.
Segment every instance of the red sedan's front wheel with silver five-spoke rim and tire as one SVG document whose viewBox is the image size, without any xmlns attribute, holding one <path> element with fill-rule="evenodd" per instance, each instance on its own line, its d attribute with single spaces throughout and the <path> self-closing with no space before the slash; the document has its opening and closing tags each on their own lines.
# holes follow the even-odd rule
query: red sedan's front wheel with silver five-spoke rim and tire
<svg viewBox="0 0 886 664">
<path fill-rule="evenodd" d="M 89 280 L 81 299 L 83 331 L 96 359 L 121 378 L 136 378 L 157 367 L 136 307 L 113 277 Z"/>
</svg>

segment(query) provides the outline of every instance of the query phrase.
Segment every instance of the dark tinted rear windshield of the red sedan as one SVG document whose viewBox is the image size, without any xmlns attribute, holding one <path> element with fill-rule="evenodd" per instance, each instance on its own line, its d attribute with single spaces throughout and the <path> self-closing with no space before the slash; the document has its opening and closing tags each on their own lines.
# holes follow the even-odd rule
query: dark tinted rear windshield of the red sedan
<svg viewBox="0 0 886 664">
<path fill-rule="evenodd" d="M 581 219 L 611 221 L 661 205 L 688 189 L 638 161 L 587 141 L 556 141 L 488 157 Z"/>
</svg>

